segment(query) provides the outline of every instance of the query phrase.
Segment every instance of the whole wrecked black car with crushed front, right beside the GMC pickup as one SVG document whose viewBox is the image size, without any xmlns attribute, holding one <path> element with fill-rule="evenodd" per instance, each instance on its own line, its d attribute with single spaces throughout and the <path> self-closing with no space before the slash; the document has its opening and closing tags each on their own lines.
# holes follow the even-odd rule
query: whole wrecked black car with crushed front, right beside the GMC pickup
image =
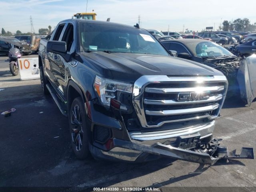
<svg viewBox="0 0 256 192">
<path fill-rule="evenodd" d="M 244 60 L 214 42 L 201 39 L 177 39 L 161 43 L 166 49 L 176 51 L 180 58 L 200 62 L 223 72 L 228 79 L 230 96 L 240 94 L 248 106 L 256 98 L 256 57 Z"/>
</svg>

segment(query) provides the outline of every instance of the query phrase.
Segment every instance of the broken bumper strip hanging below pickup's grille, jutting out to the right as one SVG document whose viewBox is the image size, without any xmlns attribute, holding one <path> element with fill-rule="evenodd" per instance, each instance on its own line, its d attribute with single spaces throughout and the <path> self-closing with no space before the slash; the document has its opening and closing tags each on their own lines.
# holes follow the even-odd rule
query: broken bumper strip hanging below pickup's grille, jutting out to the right
<svg viewBox="0 0 256 192">
<path fill-rule="evenodd" d="M 213 165 L 220 159 L 254 159 L 253 148 L 241 149 L 240 154 L 236 154 L 236 150 L 228 152 L 226 147 L 219 146 L 219 141 L 213 139 L 206 144 L 201 144 L 200 147 L 193 150 L 182 149 L 161 143 L 155 143 L 152 146 L 128 142 L 114 138 L 114 146 L 147 152 L 150 154 L 167 156 L 179 160 L 196 162 L 200 164 Z"/>
</svg>

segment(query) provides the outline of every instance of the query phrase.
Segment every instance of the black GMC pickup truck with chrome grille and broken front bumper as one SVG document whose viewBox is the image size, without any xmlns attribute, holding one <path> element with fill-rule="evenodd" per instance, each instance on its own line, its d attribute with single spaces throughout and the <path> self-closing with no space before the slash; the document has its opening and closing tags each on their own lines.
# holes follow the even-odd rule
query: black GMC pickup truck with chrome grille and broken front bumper
<svg viewBox="0 0 256 192">
<path fill-rule="evenodd" d="M 77 158 L 254 158 L 252 148 L 228 154 L 212 138 L 228 88 L 222 72 L 172 57 L 138 24 L 64 20 L 41 40 L 39 66 Z"/>
</svg>

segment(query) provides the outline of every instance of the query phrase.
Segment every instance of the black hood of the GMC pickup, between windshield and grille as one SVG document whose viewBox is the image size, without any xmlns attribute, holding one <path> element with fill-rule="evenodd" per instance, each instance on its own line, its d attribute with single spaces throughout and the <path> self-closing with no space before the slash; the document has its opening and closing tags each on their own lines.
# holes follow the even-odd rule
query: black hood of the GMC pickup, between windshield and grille
<svg viewBox="0 0 256 192">
<path fill-rule="evenodd" d="M 125 82 L 133 83 L 143 75 L 223 75 L 204 64 L 171 56 L 105 52 L 83 54 L 108 68 L 112 78 Z"/>
</svg>

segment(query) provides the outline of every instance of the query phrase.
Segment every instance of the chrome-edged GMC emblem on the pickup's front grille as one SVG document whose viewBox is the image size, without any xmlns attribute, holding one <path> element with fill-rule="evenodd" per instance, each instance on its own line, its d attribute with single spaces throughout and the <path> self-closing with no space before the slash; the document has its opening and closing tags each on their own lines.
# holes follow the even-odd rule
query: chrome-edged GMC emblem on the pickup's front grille
<svg viewBox="0 0 256 192">
<path fill-rule="evenodd" d="M 199 100 L 207 100 L 210 97 L 209 92 L 186 92 L 178 94 L 178 101 L 199 101 Z"/>
</svg>

